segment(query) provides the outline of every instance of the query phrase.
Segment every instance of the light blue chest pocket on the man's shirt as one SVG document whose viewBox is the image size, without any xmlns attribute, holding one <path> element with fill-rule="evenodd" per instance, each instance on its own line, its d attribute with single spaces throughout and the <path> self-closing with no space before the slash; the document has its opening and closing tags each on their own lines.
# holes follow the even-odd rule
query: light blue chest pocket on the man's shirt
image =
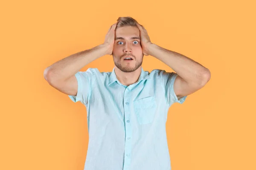
<svg viewBox="0 0 256 170">
<path fill-rule="evenodd" d="M 156 110 L 157 104 L 154 96 L 134 100 L 134 112 L 141 125 L 153 122 Z"/>
</svg>

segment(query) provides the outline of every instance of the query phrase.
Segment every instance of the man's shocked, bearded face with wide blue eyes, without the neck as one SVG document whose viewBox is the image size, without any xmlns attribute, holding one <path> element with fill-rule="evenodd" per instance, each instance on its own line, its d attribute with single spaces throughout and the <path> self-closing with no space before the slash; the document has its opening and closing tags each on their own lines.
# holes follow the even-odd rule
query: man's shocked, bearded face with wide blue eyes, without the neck
<svg viewBox="0 0 256 170">
<path fill-rule="evenodd" d="M 127 60 L 126 57 L 131 57 L 132 60 Z M 116 67 L 123 72 L 135 71 L 142 65 L 143 52 L 140 44 L 140 30 L 137 26 L 116 29 L 113 60 Z"/>
</svg>

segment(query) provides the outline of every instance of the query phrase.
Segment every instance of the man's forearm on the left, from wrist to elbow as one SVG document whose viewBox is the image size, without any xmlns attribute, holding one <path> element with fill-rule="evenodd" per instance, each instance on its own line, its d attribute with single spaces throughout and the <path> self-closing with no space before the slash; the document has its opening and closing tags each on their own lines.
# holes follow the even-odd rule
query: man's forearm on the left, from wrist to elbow
<svg viewBox="0 0 256 170">
<path fill-rule="evenodd" d="M 61 59 L 47 67 L 44 77 L 47 81 L 64 81 L 75 75 L 81 68 L 106 54 L 107 47 L 103 44 L 80 51 Z"/>
</svg>

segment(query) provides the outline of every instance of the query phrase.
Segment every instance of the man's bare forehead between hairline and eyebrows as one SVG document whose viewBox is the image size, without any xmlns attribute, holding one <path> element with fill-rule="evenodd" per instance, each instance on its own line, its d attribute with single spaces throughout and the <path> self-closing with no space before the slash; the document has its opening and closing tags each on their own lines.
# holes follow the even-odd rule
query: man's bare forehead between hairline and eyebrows
<svg viewBox="0 0 256 170">
<path fill-rule="evenodd" d="M 137 26 L 125 26 L 116 29 L 116 37 L 129 38 L 133 36 L 140 37 L 140 30 Z"/>
</svg>

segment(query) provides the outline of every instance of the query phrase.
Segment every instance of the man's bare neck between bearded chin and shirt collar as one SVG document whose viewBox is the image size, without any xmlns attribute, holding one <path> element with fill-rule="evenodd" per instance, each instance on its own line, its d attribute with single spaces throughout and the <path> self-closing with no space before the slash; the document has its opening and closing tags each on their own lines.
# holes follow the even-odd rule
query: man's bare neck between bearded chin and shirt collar
<svg viewBox="0 0 256 170">
<path fill-rule="evenodd" d="M 141 66 L 133 72 L 123 72 L 115 66 L 116 78 L 122 85 L 131 85 L 138 81 L 141 74 Z"/>
</svg>

